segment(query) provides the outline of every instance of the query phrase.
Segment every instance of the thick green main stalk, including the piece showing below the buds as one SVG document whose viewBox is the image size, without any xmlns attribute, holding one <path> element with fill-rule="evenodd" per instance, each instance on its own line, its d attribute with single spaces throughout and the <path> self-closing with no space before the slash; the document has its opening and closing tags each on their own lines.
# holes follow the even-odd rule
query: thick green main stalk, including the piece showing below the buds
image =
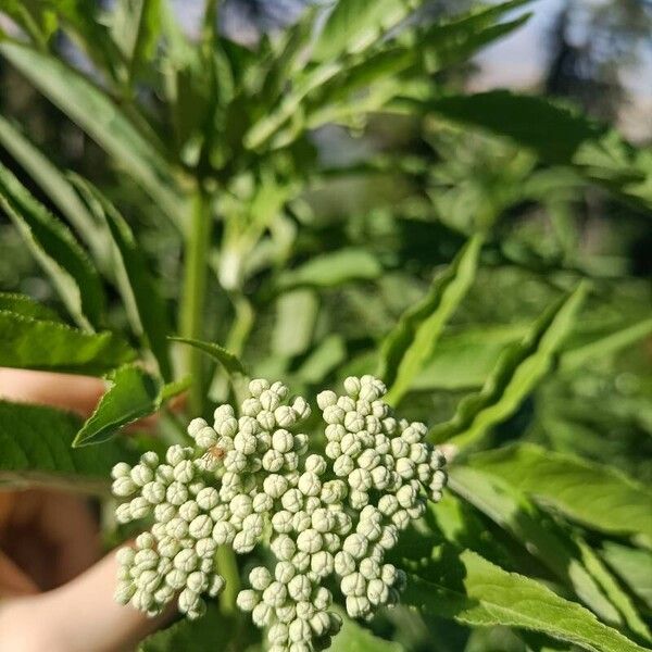
<svg viewBox="0 0 652 652">
<path fill-rule="evenodd" d="M 192 200 L 191 221 L 186 236 L 180 331 L 183 337 L 187 338 L 201 339 L 203 335 L 211 233 L 211 197 L 199 187 Z M 195 347 L 187 347 L 184 362 L 186 373 L 192 377 L 188 408 L 192 414 L 203 414 L 205 384 L 201 351 Z M 220 598 L 221 606 L 224 613 L 233 613 L 240 588 L 238 564 L 229 548 L 221 547 L 216 554 L 220 570 L 226 580 L 226 588 Z"/>
</svg>

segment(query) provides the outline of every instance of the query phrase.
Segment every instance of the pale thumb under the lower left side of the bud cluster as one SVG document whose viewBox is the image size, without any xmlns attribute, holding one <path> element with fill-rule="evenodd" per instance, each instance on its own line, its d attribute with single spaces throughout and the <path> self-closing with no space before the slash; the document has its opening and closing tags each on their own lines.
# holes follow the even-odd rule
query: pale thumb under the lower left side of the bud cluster
<svg viewBox="0 0 652 652">
<path fill-rule="evenodd" d="M 32 623 L 47 632 L 48 649 L 66 652 L 122 652 L 161 627 L 170 613 L 149 618 L 113 600 L 117 573 L 115 552 L 68 584 L 25 598 Z"/>
</svg>

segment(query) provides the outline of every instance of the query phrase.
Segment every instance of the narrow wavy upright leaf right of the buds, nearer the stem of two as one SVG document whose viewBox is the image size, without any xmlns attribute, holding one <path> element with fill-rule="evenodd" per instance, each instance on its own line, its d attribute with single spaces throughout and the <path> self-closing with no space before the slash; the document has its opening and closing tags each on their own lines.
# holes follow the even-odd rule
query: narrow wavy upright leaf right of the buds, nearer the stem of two
<svg viewBox="0 0 652 652">
<path fill-rule="evenodd" d="M 482 238 L 474 236 L 383 341 L 377 375 L 389 388 L 388 403 L 402 399 L 432 354 L 441 330 L 475 278 L 481 246 Z"/>
</svg>

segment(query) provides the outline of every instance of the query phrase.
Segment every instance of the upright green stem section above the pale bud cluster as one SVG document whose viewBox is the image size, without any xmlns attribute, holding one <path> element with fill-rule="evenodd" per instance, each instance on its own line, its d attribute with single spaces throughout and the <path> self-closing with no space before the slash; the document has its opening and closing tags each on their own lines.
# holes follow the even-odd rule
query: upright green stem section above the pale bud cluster
<svg viewBox="0 0 652 652">
<path fill-rule="evenodd" d="M 212 231 L 210 197 L 198 188 L 192 199 L 190 225 L 186 234 L 186 256 L 184 271 L 184 294 L 180 314 L 183 337 L 202 339 L 209 251 Z M 188 408 L 199 416 L 204 409 L 204 367 L 201 351 L 195 347 L 185 348 L 185 371 L 192 377 L 188 392 Z"/>
</svg>

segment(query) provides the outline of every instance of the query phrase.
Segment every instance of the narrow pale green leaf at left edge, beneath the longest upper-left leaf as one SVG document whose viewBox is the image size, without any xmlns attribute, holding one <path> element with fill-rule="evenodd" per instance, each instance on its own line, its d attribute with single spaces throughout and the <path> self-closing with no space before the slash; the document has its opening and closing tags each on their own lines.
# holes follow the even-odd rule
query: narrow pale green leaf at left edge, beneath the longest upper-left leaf
<svg viewBox="0 0 652 652">
<path fill-rule="evenodd" d="M 27 140 L 17 126 L 1 115 L 0 143 L 42 188 L 89 248 L 101 255 L 104 250 L 102 235 L 70 181 L 38 148 Z"/>
</svg>

